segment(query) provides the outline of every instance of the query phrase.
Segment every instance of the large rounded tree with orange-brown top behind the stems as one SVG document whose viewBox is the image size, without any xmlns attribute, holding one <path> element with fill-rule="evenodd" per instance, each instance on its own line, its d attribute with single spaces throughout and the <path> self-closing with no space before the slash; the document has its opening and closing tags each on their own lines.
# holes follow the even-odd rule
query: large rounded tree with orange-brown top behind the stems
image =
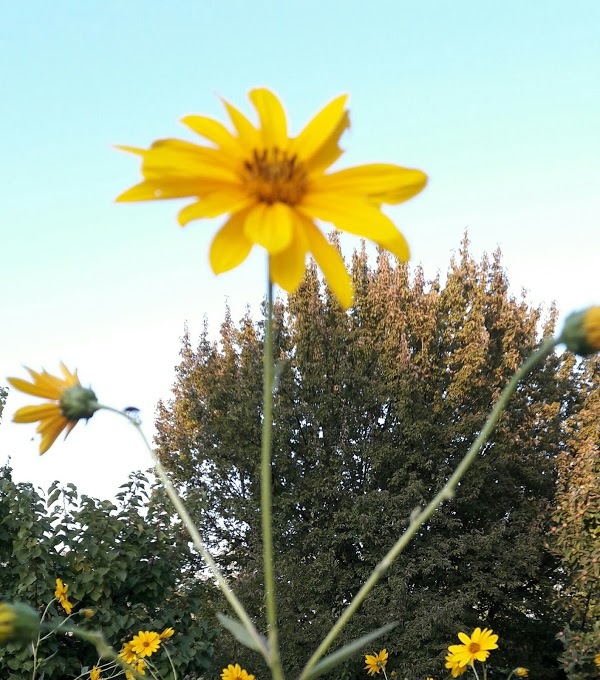
<svg viewBox="0 0 600 680">
<path fill-rule="evenodd" d="M 556 312 L 509 293 L 497 252 L 476 263 L 465 241 L 445 283 L 380 253 L 352 262 L 343 313 L 309 267 L 275 308 L 283 366 L 273 439 L 276 573 L 284 663 L 297 672 L 411 511 L 440 489 Z M 258 467 L 264 321 L 228 313 L 219 342 L 205 324 L 183 338 L 157 445 L 184 493 L 202 489 L 200 523 L 262 622 Z M 459 492 L 422 528 L 340 642 L 389 620 L 391 666 L 439 675 L 458 630 L 500 634 L 498 664 L 555 678 L 554 560 L 544 547 L 564 419 L 585 386 L 569 354 L 519 387 Z M 231 658 L 228 639 L 226 655 Z M 253 672 L 259 661 L 234 647 Z M 366 650 L 368 651 L 368 650 Z M 362 677 L 358 657 L 343 671 Z"/>
</svg>

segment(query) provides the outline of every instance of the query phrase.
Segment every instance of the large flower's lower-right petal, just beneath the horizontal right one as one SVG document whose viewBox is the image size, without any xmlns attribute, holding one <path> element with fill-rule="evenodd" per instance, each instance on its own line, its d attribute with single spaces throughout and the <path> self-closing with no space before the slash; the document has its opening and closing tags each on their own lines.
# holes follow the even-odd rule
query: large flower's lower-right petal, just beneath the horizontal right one
<svg viewBox="0 0 600 680">
<path fill-rule="evenodd" d="M 331 222 L 342 231 L 368 238 L 403 262 L 410 257 L 408 244 L 394 223 L 365 200 L 350 196 L 340 200 L 339 194 L 313 191 L 304 196 L 296 209 L 308 217 Z"/>
</svg>

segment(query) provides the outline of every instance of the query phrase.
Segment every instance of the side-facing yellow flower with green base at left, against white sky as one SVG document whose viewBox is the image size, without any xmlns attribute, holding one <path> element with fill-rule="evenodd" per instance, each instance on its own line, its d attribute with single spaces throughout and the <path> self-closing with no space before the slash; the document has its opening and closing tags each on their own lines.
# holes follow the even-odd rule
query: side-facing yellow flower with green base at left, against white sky
<svg viewBox="0 0 600 680">
<path fill-rule="evenodd" d="M 66 439 L 77 421 L 91 418 L 100 408 L 92 390 L 81 386 L 77 371 L 71 373 L 63 363 L 60 367 L 64 378 L 46 371 L 36 373 L 30 368 L 27 370 L 33 378 L 32 382 L 8 378 L 8 382 L 21 392 L 50 401 L 48 404 L 24 406 L 13 417 L 15 423 L 35 423 L 39 420 L 37 431 L 42 435 L 40 454 L 46 453 L 63 430 L 67 430 Z"/>
</svg>

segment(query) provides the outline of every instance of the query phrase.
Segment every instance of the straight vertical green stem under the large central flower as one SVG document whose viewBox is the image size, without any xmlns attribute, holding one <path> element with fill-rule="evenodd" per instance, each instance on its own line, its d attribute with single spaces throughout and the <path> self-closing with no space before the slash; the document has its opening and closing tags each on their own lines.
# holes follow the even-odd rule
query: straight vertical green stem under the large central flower
<svg viewBox="0 0 600 680">
<path fill-rule="evenodd" d="M 274 680 L 283 680 L 283 669 L 279 656 L 279 634 L 277 628 L 277 608 L 275 605 L 275 577 L 273 574 L 273 500 L 271 497 L 272 469 L 271 442 L 273 434 L 273 284 L 267 283 L 267 318 L 265 323 L 265 344 L 263 355 L 263 427 L 260 459 L 260 507 L 262 519 L 263 560 L 265 579 L 265 606 L 267 609 L 267 628 L 269 666 Z"/>
</svg>

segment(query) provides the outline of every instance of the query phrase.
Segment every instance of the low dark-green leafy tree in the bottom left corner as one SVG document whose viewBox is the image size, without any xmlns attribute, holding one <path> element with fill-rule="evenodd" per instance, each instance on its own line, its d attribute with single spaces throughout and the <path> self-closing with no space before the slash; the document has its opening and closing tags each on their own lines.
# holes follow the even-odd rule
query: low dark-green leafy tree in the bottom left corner
<svg viewBox="0 0 600 680">
<path fill-rule="evenodd" d="M 178 677 L 198 677 L 210 664 L 214 629 L 201 618 L 206 586 L 190 571 L 187 537 L 162 490 L 144 475 L 132 475 L 121 489 L 116 504 L 79 497 L 73 484 L 57 482 L 44 496 L 0 468 L 0 599 L 41 612 L 60 578 L 69 585 L 75 623 L 102 629 L 117 650 L 140 629 L 173 627 Z M 89 620 L 87 608 L 94 612 Z M 64 618 L 56 603 L 49 614 L 57 623 Z M 47 680 L 78 676 L 97 661 L 89 643 L 59 634 L 42 643 L 39 656 L 37 677 Z M 3 678 L 31 678 L 32 668 L 29 645 L 0 648 Z M 162 677 L 169 669 L 165 663 Z"/>
</svg>

